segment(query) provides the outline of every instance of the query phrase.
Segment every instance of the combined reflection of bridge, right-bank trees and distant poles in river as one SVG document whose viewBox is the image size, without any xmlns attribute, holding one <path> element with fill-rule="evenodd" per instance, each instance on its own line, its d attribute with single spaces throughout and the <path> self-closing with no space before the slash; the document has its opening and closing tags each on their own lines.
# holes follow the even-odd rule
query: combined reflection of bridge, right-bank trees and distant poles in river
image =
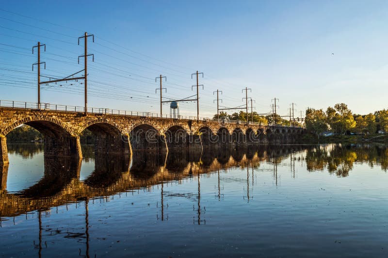
<svg viewBox="0 0 388 258">
<path fill-rule="evenodd" d="M 29 147 L 26 148 L 27 146 Z M 277 175 L 278 165 L 282 162 L 289 163 L 293 177 L 295 161 L 302 164 L 305 162 L 309 172 L 327 170 L 338 177 L 347 177 L 357 162 L 367 163 L 370 167 L 379 165 L 384 171 L 388 168 L 388 148 L 382 145 L 260 145 L 256 148 L 242 146 L 230 149 L 205 148 L 168 153 L 134 152 L 131 158 L 122 155 L 95 157 L 90 146 L 83 146 L 82 150 L 84 161 L 94 161 L 95 164 L 94 171 L 83 181 L 80 180 L 81 160 L 45 158 L 44 175 L 38 182 L 17 193 L 8 193 L 6 190 L 8 165 L 1 166 L 0 215 L 16 216 L 94 197 L 157 186 L 162 188 L 161 219 L 164 220 L 163 196 L 174 196 L 164 191 L 165 182 L 181 183 L 184 178 L 197 177 L 197 193 L 175 193 L 175 195 L 194 198 L 197 201 L 197 206 L 193 209 L 197 211 L 196 223 L 199 224 L 202 221 L 201 213 L 205 212 L 200 204 L 201 174 L 218 174 L 217 198 L 221 199 L 220 170 L 233 167 L 246 170 L 244 199 L 249 201 L 252 198 L 250 184 L 252 186 L 254 184 L 253 169 L 258 168 L 262 162 L 273 165 L 276 186 L 280 178 Z M 43 151 L 41 145 L 13 145 L 9 148 L 10 153 L 30 158 L 41 151 Z M 298 154 L 297 158 L 295 154 Z"/>
</svg>

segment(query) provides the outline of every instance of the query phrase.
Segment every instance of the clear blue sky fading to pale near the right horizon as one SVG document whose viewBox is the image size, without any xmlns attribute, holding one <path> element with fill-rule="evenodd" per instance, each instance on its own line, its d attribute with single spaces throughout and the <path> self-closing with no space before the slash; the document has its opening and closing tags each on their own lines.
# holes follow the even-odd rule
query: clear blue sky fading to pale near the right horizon
<svg viewBox="0 0 388 258">
<path fill-rule="evenodd" d="M 195 94 L 200 116 L 243 105 L 252 89 L 258 113 L 279 98 L 279 113 L 344 102 L 354 113 L 387 109 L 387 1 L 1 1 L 0 99 L 36 102 L 37 41 L 46 44 L 42 74 L 65 77 L 77 63 L 83 32 L 95 35 L 89 53 L 89 107 L 159 112 L 164 97 Z M 42 67 L 43 68 L 43 67 Z M 81 81 L 43 86 L 42 102 L 83 106 Z M 62 86 L 60 86 L 62 85 Z M 169 106 L 163 106 L 169 113 Z M 181 103 L 195 115 L 196 104 Z"/>
</svg>

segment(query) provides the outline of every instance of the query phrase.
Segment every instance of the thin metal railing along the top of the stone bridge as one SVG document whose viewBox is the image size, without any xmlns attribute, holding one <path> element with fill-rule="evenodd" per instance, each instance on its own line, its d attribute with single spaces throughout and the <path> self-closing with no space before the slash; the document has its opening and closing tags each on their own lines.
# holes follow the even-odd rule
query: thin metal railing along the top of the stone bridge
<svg viewBox="0 0 388 258">
<path fill-rule="evenodd" d="M 14 101 L 14 100 L 0 100 L 0 107 L 4 108 L 13 108 L 13 109 L 33 109 L 33 110 L 48 110 L 48 111 L 61 111 L 61 112 L 71 112 L 71 113 L 83 113 L 85 112 L 84 107 L 80 106 L 68 106 L 68 105 L 57 105 L 50 103 L 34 103 L 34 102 L 23 102 L 23 101 Z M 139 117 L 154 117 L 154 118 L 163 118 L 163 119 L 172 119 L 173 116 L 165 114 L 165 116 L 160 116 L 159 113 L 150 113 L 150 112 L 140 112 L 140 111 L 127 111 L 127 110 L 118 110 L 118 109 L 108 109 L 108 108 L 88 108 L 88 113 L 94 114 L 106 114 L 106 115 L 127 115 L 127 116 L 139 116 Z M 185 120 L 196 120 L 196 116 L 183 116 L 179 115 L 176 119 L 185 119 Z M 200 117 L 201 121 L 212 121 L 218 122 L 221 124 L 245 124 L 245 121 L 231 120 L 231 119 L 215 119 L 210 117 Z M 258 122 L 248 122 L 250 125 L 265 126 L 263 123 Z"/>
</svg>

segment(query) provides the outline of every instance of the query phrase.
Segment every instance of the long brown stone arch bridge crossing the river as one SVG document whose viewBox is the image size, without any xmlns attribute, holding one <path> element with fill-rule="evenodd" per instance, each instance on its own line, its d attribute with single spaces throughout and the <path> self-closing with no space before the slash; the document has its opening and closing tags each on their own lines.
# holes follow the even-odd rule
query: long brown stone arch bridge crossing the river
<svg viewBox="0 0 388 258">
<path fill-rule="evenodd" d="M 156 118 L 0 107 L 0 163 L 8 163 L 6 137 L 25 124 L 44 135 L 45 156 L 82 157 L 80 135 L 85 129 L 95 136 L 96 153 L 132 153 L 132 150 L 168 150 L 204 146 L 292 143 L 302 128 L 257 124 Z"/>
</svg>

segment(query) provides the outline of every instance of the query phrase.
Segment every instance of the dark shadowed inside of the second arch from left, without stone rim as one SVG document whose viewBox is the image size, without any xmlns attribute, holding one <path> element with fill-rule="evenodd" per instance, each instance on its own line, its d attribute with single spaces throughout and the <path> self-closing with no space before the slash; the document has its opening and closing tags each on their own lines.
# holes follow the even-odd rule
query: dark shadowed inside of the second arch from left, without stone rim
<svg viewBox="0 0 388 258">
<path fill-rule="evenodd" d="M 90 133 L 89 133 L 90 132 Z M 108 123 L 94 123 L 82 132 L 82 142 L 94 142 L 95 153 L 98 154 L 123 154 L 129 153 L 129 141 L 120 129 Z M 91 135 L 93 134 L 93 135 Z M 93 137 L 94 136 L 94 137 Z"/>
</svg>

